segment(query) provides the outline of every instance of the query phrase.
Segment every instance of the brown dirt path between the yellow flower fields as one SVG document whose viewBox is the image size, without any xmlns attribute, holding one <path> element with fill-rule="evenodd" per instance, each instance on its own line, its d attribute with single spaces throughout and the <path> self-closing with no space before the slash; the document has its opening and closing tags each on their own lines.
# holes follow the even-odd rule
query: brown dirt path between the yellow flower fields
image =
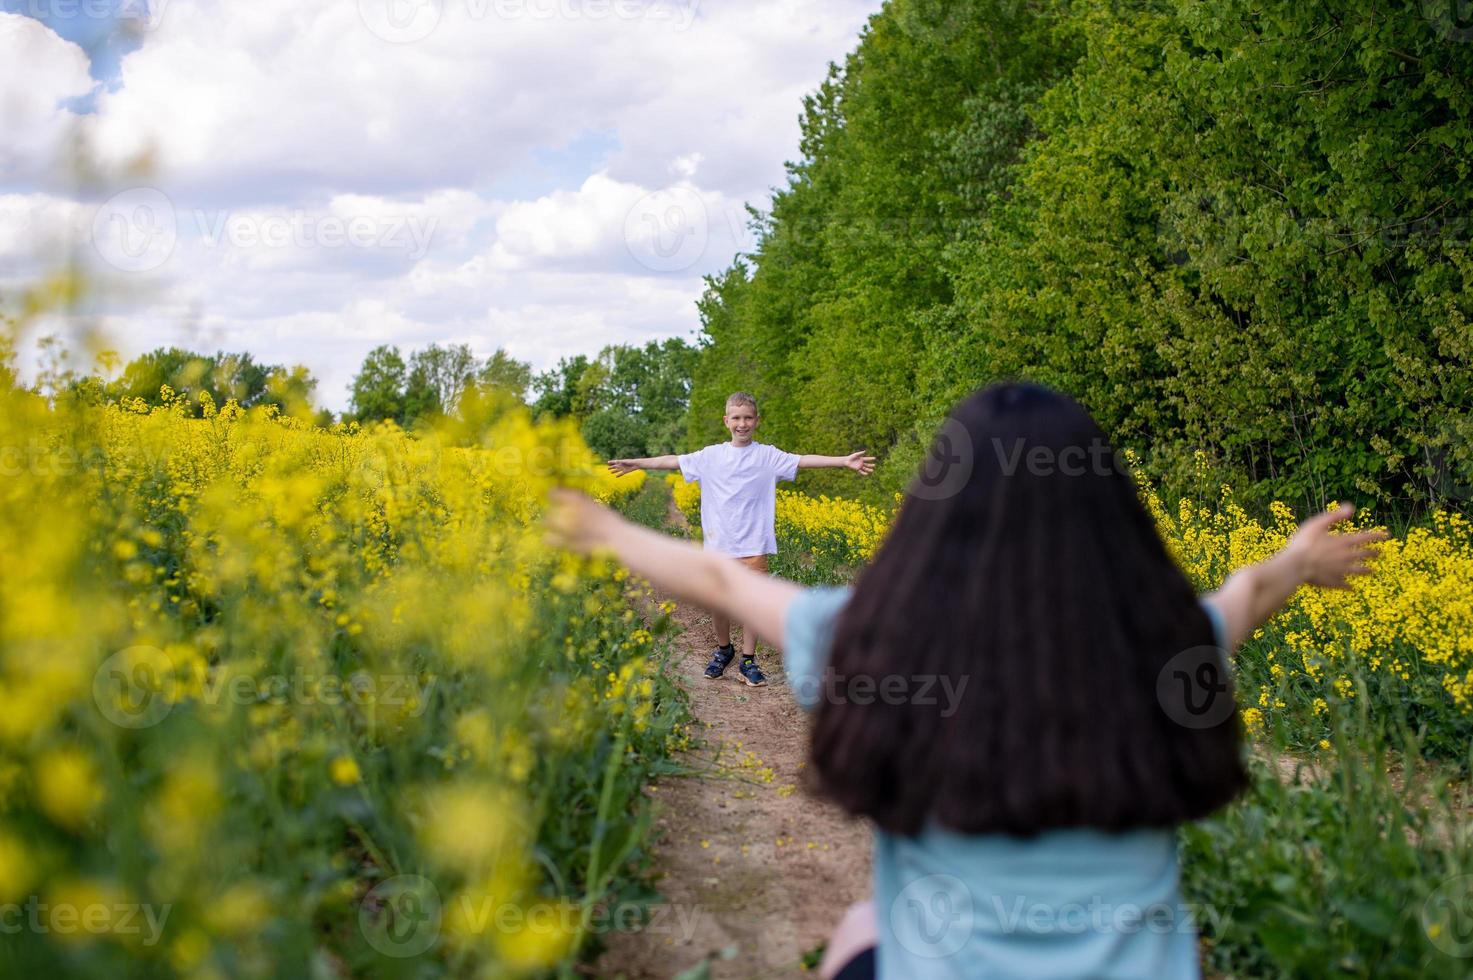
<svg viewBox="0 0 1473 980">
<path fill-rule="evenodd" d="M 669 669 L 706 741 L 681 760 L 700 775 L 650 787 L 667 905 L 647 931 L 611 936 L 597 976 L 667 980 L 706 959 L 716 980 L 803 976 L 803 955 L 869 896 L 869 831 L 800 788 L 806 718 L 776 651 L 757 648 L 766 687 L 742 684 L 735 663 L 707 681 L 710 616 L 682 604 L 675 619 L 683 632 Z"/>
</svg>

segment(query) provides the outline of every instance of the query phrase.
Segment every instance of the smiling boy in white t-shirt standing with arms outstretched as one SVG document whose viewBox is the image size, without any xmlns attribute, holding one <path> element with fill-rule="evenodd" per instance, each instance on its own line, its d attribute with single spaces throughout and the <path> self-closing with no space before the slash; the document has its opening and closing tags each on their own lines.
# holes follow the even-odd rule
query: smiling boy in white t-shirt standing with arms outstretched
<svg viewBox="0 0 1473 980">
<path fill-rule="evenodd" d="M 610 460 L 608 469 L 623 476 L 633 470 L 675 470 L 688 480 L 701 483 L 701 532 L 709 551 L 729 554 L 742 564 L 767 570 L 767 556 L 778 551 L 775 511 L 778 504 L 778 480 L 797 477 L 801 469 L 848 467 L 868 476 L 875 472 L 875 457 L 865 451 L 848 455 L 798 455 L 784 452 L 762 442 L 753 442 L 760 417 L 757 399 L 747 392 L 736 392 L 726 399 L 726 414 L 722 417 L 731 442 L 717 442 L 697 452 L 683 455 L 657 455 L 642 460 Z M 716 647 L 706 676 L 713 681 L 726 672 L 736 656 L 732 647 L 731 619 L 711 613 L 716 626 Z M 742 679 L 751 687 L 762 687 L 767 678 L 757 668 L 757 634 L 744 629 L 741 637 Z"/>
</svg>

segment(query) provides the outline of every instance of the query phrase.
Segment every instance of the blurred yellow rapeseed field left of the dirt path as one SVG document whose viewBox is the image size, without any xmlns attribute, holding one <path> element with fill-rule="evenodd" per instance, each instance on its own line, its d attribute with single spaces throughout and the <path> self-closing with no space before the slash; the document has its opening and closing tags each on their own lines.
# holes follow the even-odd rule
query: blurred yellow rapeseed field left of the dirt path
<svg viewBox="0 0 1473 980">
<path fill-rule="evenodd" d="M 567 971 L 686 735 L 669 620 L 535 522 L 642 477 L 520 408 L 0 398 L 3 971 Z"/>
</svg>

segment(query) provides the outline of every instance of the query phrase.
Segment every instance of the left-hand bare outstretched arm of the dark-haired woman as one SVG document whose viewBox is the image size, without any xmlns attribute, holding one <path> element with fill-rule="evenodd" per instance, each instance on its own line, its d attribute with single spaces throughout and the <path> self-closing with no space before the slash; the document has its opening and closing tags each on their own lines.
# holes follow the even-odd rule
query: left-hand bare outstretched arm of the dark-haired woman
<svg viewBox="0 0 1473 980">
<path fill-rule="evenodd" d="M 738 619 L 773 647 L 782 648 L 788 603 L 803 591 L 797 585 L 630 523 L 577 491 L 552 491 L 546 526 L 549 544 L 583 554 L 613 551 L 619 563 L 635 575 L 683 600 Z"/>
</svg>

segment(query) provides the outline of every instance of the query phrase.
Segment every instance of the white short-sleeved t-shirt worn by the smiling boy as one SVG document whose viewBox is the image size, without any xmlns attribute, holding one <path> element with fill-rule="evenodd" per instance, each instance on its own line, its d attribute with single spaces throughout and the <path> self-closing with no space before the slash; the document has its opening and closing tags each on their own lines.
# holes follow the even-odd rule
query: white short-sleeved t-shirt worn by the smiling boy
<svg viewBox="0 0 1473 980">
<path fill-rule="evenodd" d="M 738 559 L 776 554 L 778 480 L 798 475 L 798 455 L 762 442 L 709 445 L 679 457 L 681 475 L 701 485 L 701 532 L 709 551 Z"/>
</svg>

